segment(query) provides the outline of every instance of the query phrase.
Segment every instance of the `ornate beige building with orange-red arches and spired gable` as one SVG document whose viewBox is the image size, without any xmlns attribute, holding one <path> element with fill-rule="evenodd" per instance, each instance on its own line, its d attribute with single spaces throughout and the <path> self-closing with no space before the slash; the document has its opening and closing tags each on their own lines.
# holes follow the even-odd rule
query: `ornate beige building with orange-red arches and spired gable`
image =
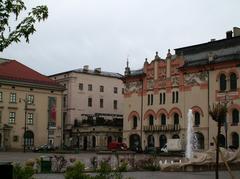
<svg viewBox="0 0 240 179">
<path fill-rule="evenodd" d="M 239 147 L 240 36 L 156 53 L 140 70 L 125 69 L 124 142 L 130 148 L 161 148 L 170 138 L 186 145 L 187 114 L 193 111 L 196 150 L 214 147 L 217 124 L 208 114 L 214 103 L 227 105 L 221 146 Z M 224 127 L 225 126 L 225 127 Z"/>
</svg>

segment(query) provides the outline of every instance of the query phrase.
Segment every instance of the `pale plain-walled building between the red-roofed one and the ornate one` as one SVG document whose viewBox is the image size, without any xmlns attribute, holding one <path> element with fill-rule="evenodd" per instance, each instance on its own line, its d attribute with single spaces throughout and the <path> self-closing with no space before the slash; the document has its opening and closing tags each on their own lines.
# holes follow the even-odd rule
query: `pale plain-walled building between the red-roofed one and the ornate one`
<svg viewBox="0 0 240 179">
<path fill-rule="evenodd" d="M 63 101 L 64 143 L 84 150 L 106 149 L 122 140 L 121 75 L 88 66 L 51 75 L 66 87 Z"/>
</svg>

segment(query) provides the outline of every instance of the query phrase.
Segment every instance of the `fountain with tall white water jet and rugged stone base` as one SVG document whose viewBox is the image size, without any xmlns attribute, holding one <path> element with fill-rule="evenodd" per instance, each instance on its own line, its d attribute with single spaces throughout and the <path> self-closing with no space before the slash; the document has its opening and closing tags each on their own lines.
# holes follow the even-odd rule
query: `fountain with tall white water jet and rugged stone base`
<svg viewBox="0 0 240 179">
<path fill-rule="evenodd" d="M 193 130 L 193 113 L 192 110 L 188 111 L 188 123 L 187 123 L 187 144 L 185 158 L 183 162 L 165 162 L 159 161 L 159 165 L 162 171 L 209 171 L 215 169 L 216 151 L 215 149 L 208 149 L 207 151 L 194 151 L 199 148 L 199 142 L 197 135 L 194 135 Z M 231 167 L 239 169 L 240 166 L 240 149 L 236 151 L 228 151 L 224 148 L 221 149 L 226 161 L 228 161 Z M 224 167 L 223 160 L 221 159 L 221 165 Z"/>
</svg>

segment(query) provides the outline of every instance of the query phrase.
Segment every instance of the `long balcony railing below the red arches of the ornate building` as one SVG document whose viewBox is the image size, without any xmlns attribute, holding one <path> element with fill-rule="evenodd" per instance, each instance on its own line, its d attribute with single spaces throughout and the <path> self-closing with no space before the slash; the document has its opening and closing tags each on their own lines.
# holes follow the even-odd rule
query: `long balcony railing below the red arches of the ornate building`
<svg viewBox="0 0 240 179">
<path fill-rule="evenodd" d="M 168 124 L 168 125 L 152 125 L 152 126 L 143 126 L 144 132 L 171 132 L 171 131 L 179 131 L 179 124 Z"/>
</svg>

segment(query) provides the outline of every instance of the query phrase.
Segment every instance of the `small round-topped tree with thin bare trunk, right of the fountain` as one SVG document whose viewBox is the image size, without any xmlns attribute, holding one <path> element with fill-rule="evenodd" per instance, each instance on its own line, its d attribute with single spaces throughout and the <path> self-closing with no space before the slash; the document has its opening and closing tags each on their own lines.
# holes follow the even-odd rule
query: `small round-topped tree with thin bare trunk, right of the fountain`
<svg viewBox="0 0 240 179">
<path fill-rule="evenodd" d="M 215 168 L 215 178 L 218 179 L 218 164 L 219 164 L 219 138 L 220 138 L 220 133 L 221 133 L 221 126 L 222 122 L 225 119 L 225 116 L 227 114 L 227 107 L 226 105 L 223 104 L 213 104 L 212 108 L 209 110 L 209 114 L 212 117 L 214 121 L 217 122 L 217 144 L 216 144 L 216 168 Z"/>
</svg>

